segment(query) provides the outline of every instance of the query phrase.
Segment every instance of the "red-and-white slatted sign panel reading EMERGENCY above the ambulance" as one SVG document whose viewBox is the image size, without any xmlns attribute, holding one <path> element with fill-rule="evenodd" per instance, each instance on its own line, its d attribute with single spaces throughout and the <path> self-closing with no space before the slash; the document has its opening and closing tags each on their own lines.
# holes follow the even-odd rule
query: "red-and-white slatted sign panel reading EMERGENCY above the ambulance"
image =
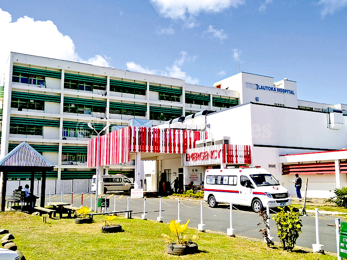
<svg viewBox="0 0 347 260">
<path fill-rule="evenodd" d="M 219 144 L 187 149 L 183 155 L 183 166 L 214 164 L 251 164 L 251 146 Z"/>
</svg>

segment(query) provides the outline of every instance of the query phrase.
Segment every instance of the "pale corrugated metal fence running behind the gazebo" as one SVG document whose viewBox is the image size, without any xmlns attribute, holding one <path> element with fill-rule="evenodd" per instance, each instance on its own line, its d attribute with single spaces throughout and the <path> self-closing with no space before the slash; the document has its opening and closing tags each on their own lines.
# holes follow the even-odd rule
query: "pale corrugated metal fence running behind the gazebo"
<svg viewBox="0 0 347 260">
<path fill-rule="evenodd" d="M 30 180 L 8 180 L 6 186 L 6 196 L 11 196 L 18 186 L 30 185 Z M 46 180 L 45 194 L 63 194 L 66 193 L 89 193 L 91 188 L 91 179 L 66 179 L 66 180 Z M 41 194 L 41 180 L 34 181 L 34 195 Z"/>
</svg>

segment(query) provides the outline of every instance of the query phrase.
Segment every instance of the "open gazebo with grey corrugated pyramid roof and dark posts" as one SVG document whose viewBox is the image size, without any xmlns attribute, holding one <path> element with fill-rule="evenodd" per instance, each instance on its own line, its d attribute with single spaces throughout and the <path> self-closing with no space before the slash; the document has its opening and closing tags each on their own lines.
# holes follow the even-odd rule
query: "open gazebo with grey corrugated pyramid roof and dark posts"
<svg viewBox="0 0 347 260">
<path fill-rule="evenodd" d="M 54 165 L 48 162 L 40 153 L 38 153 L 28 143 L 22 142 L 3 159 L 0 160 L 1 171 L 1 211 L 5 211 L 7 172 L 28 172 L 30 176 L 30 193 L 34 193 L 34 180 L 37 173 L 41 175 L 41 195 L 40 206 L 44 207 L 46 172 L 53 170 Z"/>
</svg>

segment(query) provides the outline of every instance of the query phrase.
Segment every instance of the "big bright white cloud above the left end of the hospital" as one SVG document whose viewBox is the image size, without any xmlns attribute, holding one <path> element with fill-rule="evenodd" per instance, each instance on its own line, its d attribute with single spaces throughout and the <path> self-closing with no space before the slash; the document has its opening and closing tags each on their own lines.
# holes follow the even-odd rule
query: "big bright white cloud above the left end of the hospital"
<svg viewBox="0 0 347 260">
<path fill-rule="evenodd" d="M 6 39 L 1 42 L 0 75 L 10 51 L 68 61 L 74 61 L 76 58 L 77 62 L 109 67 L 106 60 L 109 58 L 105 59 L 100 55 L 87 60 L 82 59 L 76 52 L 72 39 L 60 33 L 53 21 L 35 21 L 24 16 L 12 22 L 11 14 L 0 9 L 0 28 L 2 39 Z M 23 36 L 22 32 L 28 33 Z"/>
</svg>

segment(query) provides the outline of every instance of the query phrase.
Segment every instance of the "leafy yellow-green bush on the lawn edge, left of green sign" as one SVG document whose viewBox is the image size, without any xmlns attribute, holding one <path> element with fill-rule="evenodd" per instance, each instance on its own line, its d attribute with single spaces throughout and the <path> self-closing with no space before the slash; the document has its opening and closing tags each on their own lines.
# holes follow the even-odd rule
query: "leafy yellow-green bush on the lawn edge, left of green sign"
<svg viewBox="0 0 347 260">
<path fill-rule="evenodd" d="M 279 207 L 281 211 L 276 215 L 272 216 L 272 219 L 276 221 L 277 235 L 281 241 L 281 246 L 284 250 L 291 250 L 294 248 L 296 239 L 299 238 L 302 232 L 299 212 L 293 211 L 293 207 Z"/>
</svg>

